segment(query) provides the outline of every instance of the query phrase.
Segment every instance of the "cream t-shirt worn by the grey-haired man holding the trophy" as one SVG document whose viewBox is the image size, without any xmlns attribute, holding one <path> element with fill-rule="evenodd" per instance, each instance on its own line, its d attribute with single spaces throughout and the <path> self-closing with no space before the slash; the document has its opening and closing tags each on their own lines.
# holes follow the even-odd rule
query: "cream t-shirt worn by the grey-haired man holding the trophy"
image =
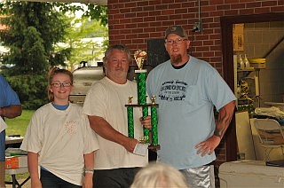
<svg viewBox="0 0 284 188">
<path fill-rule="evenodd" d="M 133 96 L 132 104 L 137 103 L 137 85 L 127 81 L 117 84 L 107 77 L 96 82 L 85 98 L 83 113 L 104 118 L 115 130 L 128 136 L 127 107 L 128 98 Z M 142 111 L 133 108 L 134 137 L 143 137 L 143 129 L 139 118 Z M 144 167 L 147 156 L 128 152 L 122 145 L 106 140 L 98 135 L 99 151 L 96 153 L 95 169 Z"/>
</svg>

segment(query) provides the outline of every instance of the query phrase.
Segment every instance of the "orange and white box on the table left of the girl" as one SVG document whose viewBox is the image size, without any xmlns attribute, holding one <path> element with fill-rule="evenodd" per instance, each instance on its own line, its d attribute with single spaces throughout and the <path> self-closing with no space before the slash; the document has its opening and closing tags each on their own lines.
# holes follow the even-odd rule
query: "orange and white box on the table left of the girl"
<svg viewBox="0 0 284 188">
<path fill-rule="evenodd" d="M 23 168 L 28 167 L 28 155 L 19 155 L 5 158 L 5 168 Z"/>
</svg>

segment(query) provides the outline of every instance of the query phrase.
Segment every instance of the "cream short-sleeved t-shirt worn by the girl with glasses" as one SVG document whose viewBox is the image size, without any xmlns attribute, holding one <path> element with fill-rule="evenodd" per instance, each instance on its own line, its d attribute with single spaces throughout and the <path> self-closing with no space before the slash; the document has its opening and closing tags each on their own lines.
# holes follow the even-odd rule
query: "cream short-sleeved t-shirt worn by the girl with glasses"
<svg viewBox="0 0 284 188">
<path fill-rule="evenodd" d="M 55 176 L 82 185 L 84 153 L 99 149 L 82 107 L 57 110 L 51 103 L 36 110 L 20 149 L 39 154 L 39 165 Z"/>
</svg>

